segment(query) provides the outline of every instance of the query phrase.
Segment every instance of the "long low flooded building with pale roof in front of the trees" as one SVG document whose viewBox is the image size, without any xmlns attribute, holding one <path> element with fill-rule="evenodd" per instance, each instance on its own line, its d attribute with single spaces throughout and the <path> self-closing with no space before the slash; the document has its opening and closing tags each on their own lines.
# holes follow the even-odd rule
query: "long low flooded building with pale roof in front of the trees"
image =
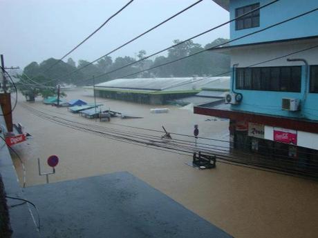
<svg viewBox="0 0 318 238">
<path fill-rule="evenodd" d="M 226 90 L 228 90 L 230 77 L 115 79 L 96 84 L 95 95 L 161 105 L 174 99 L 196 95 L 201 88 L 210 88 L 211 85 L 218 88 L 218 84 L 224 84 L 223 81 L 227 81 Z"/>
</svg>

